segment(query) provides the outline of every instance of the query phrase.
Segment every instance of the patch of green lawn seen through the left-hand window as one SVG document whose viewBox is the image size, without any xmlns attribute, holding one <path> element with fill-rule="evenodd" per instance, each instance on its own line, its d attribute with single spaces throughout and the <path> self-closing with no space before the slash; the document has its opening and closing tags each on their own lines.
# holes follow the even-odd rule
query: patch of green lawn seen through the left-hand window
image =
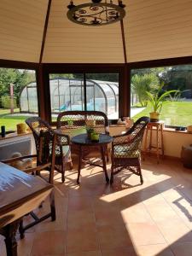
<svg viewBox="0 0 192 256">
<path fill-rule="evenodd" d="M 26 116 L 20 113 L 20 109 L 16 108 L 15 113 L 17 115 L 10 115 L 9 109 L 0 109 L 0 126 L 5 125 L 6 131 L 16 131 L 16 125 L 20 123 L 25 123 Z M 18 115 L 20 113 L 20 115 Z"/>
</svg>

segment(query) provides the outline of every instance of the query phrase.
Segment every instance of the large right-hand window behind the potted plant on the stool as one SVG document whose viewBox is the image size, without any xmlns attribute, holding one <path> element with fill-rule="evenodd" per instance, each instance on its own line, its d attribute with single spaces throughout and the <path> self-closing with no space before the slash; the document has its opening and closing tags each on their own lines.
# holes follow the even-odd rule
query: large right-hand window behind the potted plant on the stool
<svg viewBox="0 0 192 256">
<path fill-rule="evenodd" d="M 148 91 L 162 96 L 166 91 L 177 90 L 163 99 L 160 119 L 169 126 L 192 124 L 192 64 L 172 67 L 131 70 L 131 117 L 137 119 L 154 111 L 148 101 Z"/>
</svg>

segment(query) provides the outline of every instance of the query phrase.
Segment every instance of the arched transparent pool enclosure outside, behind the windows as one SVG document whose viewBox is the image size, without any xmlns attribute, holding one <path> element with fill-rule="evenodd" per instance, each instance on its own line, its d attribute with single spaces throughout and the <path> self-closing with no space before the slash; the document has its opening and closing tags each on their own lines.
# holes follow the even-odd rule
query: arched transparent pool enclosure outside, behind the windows
<svg viewBox="0 0 192 256">
<path fill-rule="evenodd" d="M 20 93 L 20 112 L 38 113 L 37 84 L 26 84 Z M 51 113 L 57 114 L 67 110 L 84 110 L 83 79 L 49 80 Z M 86 109 L 98 110 L 109 117 L 119 112 L 119 83 L 86 80 Z"/>
</svg>

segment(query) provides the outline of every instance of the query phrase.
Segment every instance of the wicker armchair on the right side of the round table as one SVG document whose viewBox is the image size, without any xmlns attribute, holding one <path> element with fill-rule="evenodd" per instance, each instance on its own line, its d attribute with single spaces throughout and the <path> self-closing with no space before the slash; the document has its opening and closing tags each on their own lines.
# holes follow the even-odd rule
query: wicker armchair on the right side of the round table
<svg viewBox="0 0 192 256">
<path fill-rule="evenodd" d="M 129 169 L 140 176 L 141 183 L 143 183 L 141 147 L 143 134 L 148 122 L 148 117 L 137 119 L 129 131 L 126 131 L 123 135 L 113 137 L 110 183 L 113 183 L 113 175 L 123 169 Z"/>
</svg>

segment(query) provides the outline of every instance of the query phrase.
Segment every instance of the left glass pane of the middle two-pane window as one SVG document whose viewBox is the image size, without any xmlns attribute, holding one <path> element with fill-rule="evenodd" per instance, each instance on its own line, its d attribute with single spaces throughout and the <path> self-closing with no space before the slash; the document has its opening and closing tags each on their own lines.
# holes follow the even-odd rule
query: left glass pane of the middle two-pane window
<svg viewBox="0 0 192 256">
<path fill-rule="evenodd" d="M 84 76 L 79 73 L 49 74 L 51 119 L 69 110 L 84 110 Z"/>
</svg>

